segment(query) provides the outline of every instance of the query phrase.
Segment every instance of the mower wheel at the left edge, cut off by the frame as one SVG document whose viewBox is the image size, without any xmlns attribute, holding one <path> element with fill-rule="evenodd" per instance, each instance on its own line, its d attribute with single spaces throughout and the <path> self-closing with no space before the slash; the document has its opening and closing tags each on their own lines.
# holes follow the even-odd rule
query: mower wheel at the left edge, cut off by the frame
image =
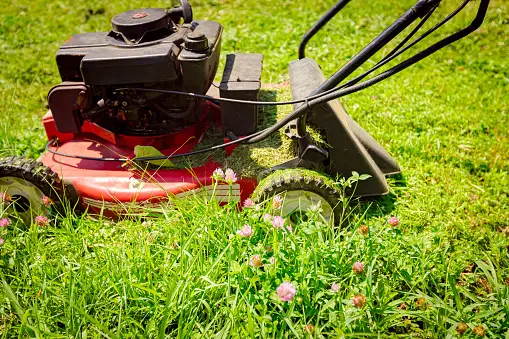
<svg viewBox="0 0 509 339">
<path fill-rule="evenodd" d="M 25 157 L 0 158 L 0 215 L 30 224 L 36 216 L 62 212 L 62 182 L 49 167 Z"/>
</svg>

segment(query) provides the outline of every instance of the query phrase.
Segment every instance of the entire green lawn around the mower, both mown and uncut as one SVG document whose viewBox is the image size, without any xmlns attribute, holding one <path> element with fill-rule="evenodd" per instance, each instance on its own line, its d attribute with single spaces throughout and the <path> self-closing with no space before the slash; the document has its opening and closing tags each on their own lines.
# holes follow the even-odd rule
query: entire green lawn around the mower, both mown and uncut
<svg viewBox="0 0 509 339">
<path fill-rule="evenodd" d="M 225 26 L 223 55 L 263 53 L 264 82 L 282 83 L 302 34 L 332 3 L 192 4 L 196 18 Z M 331 74 L 411 4 L 353 1 L 312 40 L 308 55 Z M 457 4 L 444 2 L 437 17 Z M 167 5 L 7 0 L 0 8 L 0 156 L 43 151 L 40 119 L 46 93 L 59 82 L 54 53 L 63 41 L 108 30 L 118 12 Z M 460 15 L 442 36 L 473 14 Z M 68 216 L 59 227 L 15 224 L 0 230 L 0 334 L 454 338 L 465 322 L 465 337 L 476 337 L 473 328 L 482 325 L 486 337 L 507 338 L 508 24 L 508 4 L 493 0 L 471 36 L 344 98 L 403 175 L 390 179 L 390 195 L 354 202 L 341 231 L 311 216 L 283 234 L 264 224 L 261 212 L 204 201 L 178 201 L 180 208 L 149 220 Z M 390 216 L 398 227 L 388 226 Z M 253 237 L 230 239 L 246 223 Z M 357 231 L 361 224 L 369 235 Z M 248 265 L 256 254 L 264 269 Z M 365 265 L 361 275 L 352 272 L 356 261 Z M 290 303 L 275 295 L 282 281 L 297 287 Z M 362 309 L 352 305 L 357 294 L 366 296 Z"/>
</svg>

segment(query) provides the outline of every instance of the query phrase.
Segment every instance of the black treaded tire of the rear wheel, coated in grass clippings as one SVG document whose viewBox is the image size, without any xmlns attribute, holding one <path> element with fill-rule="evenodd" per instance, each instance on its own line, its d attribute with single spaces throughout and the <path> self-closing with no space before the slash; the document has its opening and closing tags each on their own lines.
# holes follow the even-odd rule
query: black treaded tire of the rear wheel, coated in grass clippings
<svg viewBox="0 0 509 339">
<path fill-rule="evenodd" d="M 321 201 L 329 204 L 332 209 L 331 214 L 334 223 L 339 224 L 342 213 L 341 194 L 335 188 L 334 181 L 330 177 L 316 171 L 304 168 L 275 171 L 259 183 L 253 192 L 252 200 L 255 203 L 261 203 L 280 195 L 283 198 L 283 204 L 285 204 L 285 196 L 289 192 L 301 192 L 303 194 L 311 192 L 313 196 L 319 196 Z M 300 203 L 299 206 L 301 206 Z M 284 206 L 282 208 L 284 210 Z M 307 210 L 305 207 L 298 209 L 299 212 L 306 212 Z"/>
</svg>

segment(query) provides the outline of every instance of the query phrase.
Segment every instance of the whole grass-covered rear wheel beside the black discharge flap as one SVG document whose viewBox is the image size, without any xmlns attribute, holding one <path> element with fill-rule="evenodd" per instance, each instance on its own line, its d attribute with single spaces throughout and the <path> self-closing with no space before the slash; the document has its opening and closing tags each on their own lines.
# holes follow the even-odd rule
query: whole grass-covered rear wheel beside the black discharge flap
<svg viewBox="0 0 509 339">
<path fill-rule="evenodd" d="M 334 187 L 334 181 L 319 172 L 304 168 L 275 171 L 256 187 L 253 201 L 261 203 L 276 195 L 282 198 L 284 217 L 303 215 L 318 208 L 328 223 L 340 220 L 341 194 Z"/>
</svg>

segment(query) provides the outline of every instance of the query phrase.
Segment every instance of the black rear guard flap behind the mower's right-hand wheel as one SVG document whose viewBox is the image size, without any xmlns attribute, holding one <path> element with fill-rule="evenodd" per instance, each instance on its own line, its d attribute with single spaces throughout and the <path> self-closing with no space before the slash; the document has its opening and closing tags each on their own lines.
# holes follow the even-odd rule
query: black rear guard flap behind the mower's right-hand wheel
<svg viewBox="0 0 509 339">
<path fill-rule="evenodd" d="M 290 64 L 290 84 L 294 100 L 309 96 L 325 80 L 318 64 L 309 58 Z M 300 106 L 298 104 L 295 106 Z M 385 175 L 400 173 L 391 155 L 359 126 L 338 100 L 329 101 L 309 110 L 307 122 L 325 132 L 330 148 L 327 173 L 332 177 L 349 176 L 352 171 L 369 174 L 359 181 L 355 196 L 379 196 L 389 192 Z"/>
</svg>

